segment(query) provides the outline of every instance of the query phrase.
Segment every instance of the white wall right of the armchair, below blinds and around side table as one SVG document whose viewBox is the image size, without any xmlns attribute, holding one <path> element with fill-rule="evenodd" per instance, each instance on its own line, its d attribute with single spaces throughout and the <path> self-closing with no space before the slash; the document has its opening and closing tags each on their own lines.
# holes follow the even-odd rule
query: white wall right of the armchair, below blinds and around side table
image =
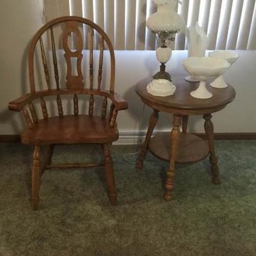
<svg viewBox="0 0 256 256">
<path fill-rule="evenodd" d="M 236 99 L 227 108 L 213 114 L 216 132 L 256 132 L 256 51 L 238 51 L 239 59 L 225 74 L 227 83 L 236 90 Z M 174 51 L 167 69 L 175 79 L 175 74 L 184 72 L 182 60 L 187 58 L 186 51 Z M 121 131 L 138 130 L 138 120 L 141 118 L 143 104 L 134 93 L 135 84 L 148 76 L 155 74 L 158 69 L 155 53 L 145 52 L 116 52 L 117 65 L 116 91 L 129 100 L 129 111 L 120 112 L 119 127 Z M 140 129 L 147 129 L 147 122 L 151 110 L 146 107 L 143 124 Z M 118 114 L 119 115 L 119 114 Z M 168 114 L 161 114 L 156 130 L 170 129 L 171 118 Z M 192 116 L 189 130 L 203 132 L 204 124 L 200 116 Z"/>
</svg>

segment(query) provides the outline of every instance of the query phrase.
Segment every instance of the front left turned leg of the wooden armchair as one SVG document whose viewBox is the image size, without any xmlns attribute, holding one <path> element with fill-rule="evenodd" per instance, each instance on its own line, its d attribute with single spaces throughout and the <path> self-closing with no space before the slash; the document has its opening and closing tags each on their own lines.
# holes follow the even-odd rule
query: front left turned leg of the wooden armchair
<svg viewBox="0 0 256 256">
<path fill-rule="evenodd" d="M 35 146 L 31 170 L 31 208 L 36 211 L 39 203 L 40 191 L 40 147 Z"/>
</svg>

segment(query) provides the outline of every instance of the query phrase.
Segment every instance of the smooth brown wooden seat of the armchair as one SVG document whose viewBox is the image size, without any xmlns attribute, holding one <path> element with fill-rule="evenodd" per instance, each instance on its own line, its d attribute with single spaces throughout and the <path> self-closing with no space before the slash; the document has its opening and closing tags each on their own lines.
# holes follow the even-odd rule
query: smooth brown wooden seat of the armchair
<svg viewBox="0 0 256 256">
<path fill-rule="evenodd" d="M 38 120 L 33 128 L 21 134 L 25 144 L 111 143 L 118 140 L 118 129 L 109 127 L 100 116 L 65 115 Z"/>
</svg>

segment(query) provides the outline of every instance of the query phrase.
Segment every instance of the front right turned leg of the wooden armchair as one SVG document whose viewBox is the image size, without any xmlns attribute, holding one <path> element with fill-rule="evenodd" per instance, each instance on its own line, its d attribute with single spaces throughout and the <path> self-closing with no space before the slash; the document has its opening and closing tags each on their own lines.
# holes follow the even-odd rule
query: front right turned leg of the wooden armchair
<svg viewBox="0 0 256 256">
<path fill-rule="evenodd" d="M 108 190 L 109 190 L 109 193 L 108 193 L 109 200 L 111 202 L 111 205 L 117 205 L 115 176 L 113 172 L 113 161 L 112 161 L 111 153 L 110 153 L 108 144 L 103 144 L 102 147 L 103 147 L 103 154 L 104 154 L 106 180 L 107 180 Z"/>
</svg>

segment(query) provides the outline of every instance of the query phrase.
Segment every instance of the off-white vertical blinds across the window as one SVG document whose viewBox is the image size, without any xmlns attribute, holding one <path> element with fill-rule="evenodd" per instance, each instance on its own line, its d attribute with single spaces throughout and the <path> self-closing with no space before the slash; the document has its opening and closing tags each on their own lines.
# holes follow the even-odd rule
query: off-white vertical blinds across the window
<svg viewBox="0 0 256 256">
<path fill-rule="evenodd" d="M 84 17 L 106 31 L 116 50 L 156 49 L 156 36 L 146 28 L 147 18 L 156 12 L 153 0 L 43 1 L 46 21 L 65 15 Z M 255 1 L 182 0 L 177 12 L 184 17 L 188 27 L 198 21 L 209 36 L 209 49 L 255 50 Z M 184 33 L 176 35 L 171 47 L 186 49 Z"/>
</svg>

